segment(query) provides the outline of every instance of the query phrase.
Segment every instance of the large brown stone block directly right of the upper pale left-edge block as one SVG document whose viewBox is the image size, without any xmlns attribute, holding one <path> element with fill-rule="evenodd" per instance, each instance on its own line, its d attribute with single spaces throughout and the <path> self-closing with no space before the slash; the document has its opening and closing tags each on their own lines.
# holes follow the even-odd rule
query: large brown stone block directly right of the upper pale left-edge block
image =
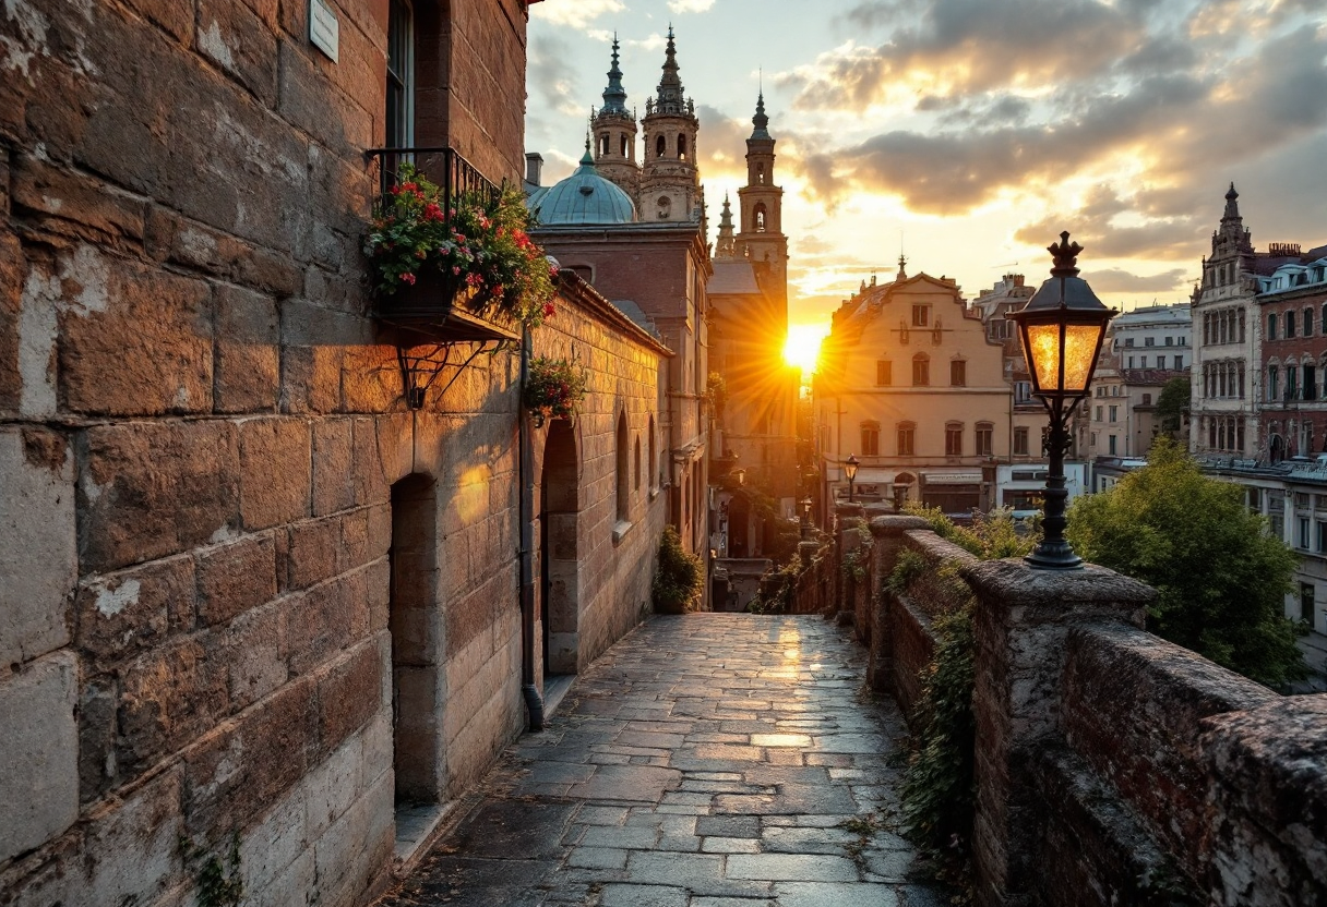
<svg viewBox="0 0 1327 907">
<path fill-rule="evenodd" d="M 80 566 L 113 570 L 227 538 L 239 431 L 224 422 L 98 426 L 80 440 Z"/>
</svg>

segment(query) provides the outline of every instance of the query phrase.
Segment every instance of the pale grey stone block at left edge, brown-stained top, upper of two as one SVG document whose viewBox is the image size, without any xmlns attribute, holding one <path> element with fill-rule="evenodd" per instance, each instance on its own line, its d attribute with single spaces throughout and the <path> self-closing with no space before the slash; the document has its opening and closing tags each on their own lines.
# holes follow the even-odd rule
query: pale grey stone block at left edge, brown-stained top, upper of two
<svg viewBox="0 0 1327 907">
<path fill-rule="evenodd" d="M 69 642 L 78 575 L 73 456 L 45 428 L 0 428 L 0 666 Z"/>
</svg>

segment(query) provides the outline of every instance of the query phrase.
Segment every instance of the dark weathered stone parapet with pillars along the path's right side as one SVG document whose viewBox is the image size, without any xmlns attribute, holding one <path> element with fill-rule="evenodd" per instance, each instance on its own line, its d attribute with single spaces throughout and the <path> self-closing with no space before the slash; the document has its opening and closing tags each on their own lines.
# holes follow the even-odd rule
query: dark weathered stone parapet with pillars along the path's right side
<svg viewBox="0 0 1327 907">
<path fill-rule="evenodd" d="M 910 549 L 932 564 L 912 587 L 953 564 L 977 597 L 982 904 L 1327 903 L 1327 696 L 1148 634 L 1141 583 L 974 561 L 918 524 L 872 521 L 872 575 Z M 910 708 L 926 634 L 905 598 L 884 594 L 871 670 Z"/>
</svg>

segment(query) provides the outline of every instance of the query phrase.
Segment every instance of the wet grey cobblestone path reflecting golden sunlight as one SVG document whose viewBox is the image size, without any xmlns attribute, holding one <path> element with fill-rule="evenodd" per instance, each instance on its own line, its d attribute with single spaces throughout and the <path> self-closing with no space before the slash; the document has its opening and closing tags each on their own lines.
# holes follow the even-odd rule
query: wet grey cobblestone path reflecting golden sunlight
<svg viewBox="0 0 1327 907">
<path fill-rule="evenodd" d="M 658 617 L 613 646 L 384 907 L 930 907 L 888 830 L 904 733 L 819 617 Z"/>
</svg>

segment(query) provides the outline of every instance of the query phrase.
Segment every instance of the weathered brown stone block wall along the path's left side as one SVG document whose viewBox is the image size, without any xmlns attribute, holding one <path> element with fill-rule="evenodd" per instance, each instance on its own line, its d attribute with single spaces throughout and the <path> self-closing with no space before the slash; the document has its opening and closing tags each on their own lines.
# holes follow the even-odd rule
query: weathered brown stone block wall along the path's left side
<svg viewBox="0 0 1327 907">
<path fill-rule="evenodd" d="M 387 4 L 333 1 L 337 64 L 308 7 L 0 11 L 0 903 L 192 903 L 182 835 L 232 834 L 247 903 L 362 903 L 402 769 L 447 800 L 524 724 L 519 357 L 462 347 L 406 408 L 360 253 Z M 421 133 L 516 176 L 524 5 L 441 7 Z M 666 351 L 575 300 L 567 342 L 613 382 L 584 660 L 660 521 L 605 541 L 600 414 L 642 431 Z"/>
</svg>

